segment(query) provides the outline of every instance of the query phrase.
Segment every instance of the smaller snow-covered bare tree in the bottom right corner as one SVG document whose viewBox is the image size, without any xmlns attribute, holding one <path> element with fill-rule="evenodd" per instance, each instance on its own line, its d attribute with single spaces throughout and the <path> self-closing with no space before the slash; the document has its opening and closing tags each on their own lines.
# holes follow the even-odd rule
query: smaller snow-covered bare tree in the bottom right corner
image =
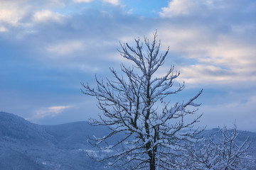
<svg viewBox="0 0 256 170">
<path fill-rule="evenodd" d="M 244 169 L 242 159 L 248 158 L 247 149 L 250 147 L 249 137 L 238 145 L 239 133 L 236 125 L 232 130 L 219 128 L 222 135 L 220 142 L 209 139 L 199 145 L 199 148 L 188 149 L 190 169 L 237 170 Z"/>
</svg>

